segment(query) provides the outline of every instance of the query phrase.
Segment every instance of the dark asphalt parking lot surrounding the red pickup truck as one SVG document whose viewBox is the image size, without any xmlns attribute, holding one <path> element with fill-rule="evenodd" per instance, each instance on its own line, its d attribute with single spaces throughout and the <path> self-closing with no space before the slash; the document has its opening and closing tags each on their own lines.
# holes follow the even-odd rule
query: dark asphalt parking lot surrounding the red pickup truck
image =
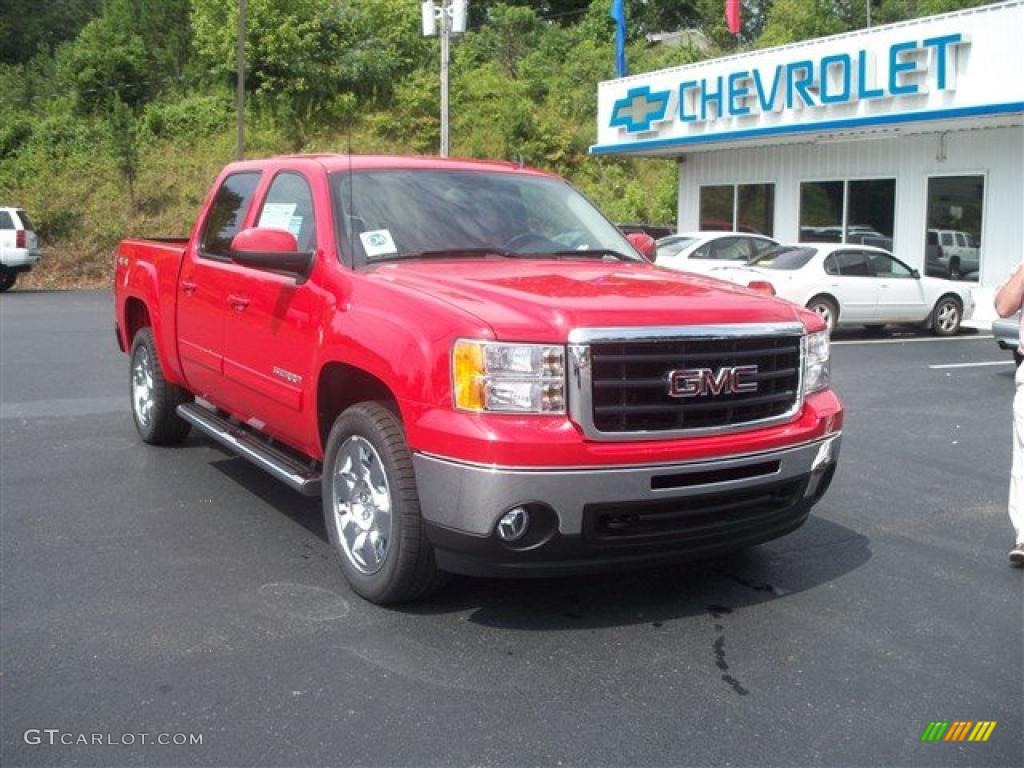
<svg viewBox="0 0 1024 768">
<path fill-rule="evenodd" d="M 349 592 L 316 500 L 137 439 L 109 293 L 14 291 L 0 327 L 5 766 L 1024 764 L 990 339 L 838 335 L 840 469 L 788 537 L 395 610 Z M 922 742 L 934 720 L 997 725 Z"/>
</svg>

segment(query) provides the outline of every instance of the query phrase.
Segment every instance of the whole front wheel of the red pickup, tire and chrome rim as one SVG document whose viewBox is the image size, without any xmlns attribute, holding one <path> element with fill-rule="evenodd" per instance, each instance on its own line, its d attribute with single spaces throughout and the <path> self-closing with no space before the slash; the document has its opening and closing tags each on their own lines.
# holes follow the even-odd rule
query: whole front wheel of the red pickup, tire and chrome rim
<svg viewBox="0 0 1024 768">
<path fill-rule="evenodd" d="M 324 522 L 345 580 L 380 604 L 414 600 L 440 586 L 416 493 L 401 422 L 380 402 L 347 409 L 324 459 Z"/>
</svg>

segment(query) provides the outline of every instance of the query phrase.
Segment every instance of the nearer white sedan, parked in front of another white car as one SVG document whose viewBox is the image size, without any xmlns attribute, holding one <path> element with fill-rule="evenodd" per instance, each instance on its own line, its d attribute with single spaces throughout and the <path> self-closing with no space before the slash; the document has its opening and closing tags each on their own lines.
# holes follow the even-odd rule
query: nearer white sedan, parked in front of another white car
<svg viewBox="0 0 1024 768">
<path fill-rule="evenodd" d="M 743 267 L 711 272 L 817 312 L 828 325 L 880 328 L 887 323 L 928 324 L 952 336 L 974 313 L 971 289 L 921 272 L 888 251 L 852 243 L 778 246 Z"/>
</svg>

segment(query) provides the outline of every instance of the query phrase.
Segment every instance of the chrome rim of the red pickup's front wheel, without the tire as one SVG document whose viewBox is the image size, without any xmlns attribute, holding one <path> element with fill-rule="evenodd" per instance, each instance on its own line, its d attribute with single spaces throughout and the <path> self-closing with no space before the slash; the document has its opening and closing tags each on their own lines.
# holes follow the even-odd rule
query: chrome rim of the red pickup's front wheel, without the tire
<svg viewBox="0 0 1024 768">
<path fill-rule="evenodd" d="M 391 488 L 373 444 L 353 435 L 334 462 L 331 503 L 338 542 L 360 573 L 376 573 L 391 543 Z"/>
</svg>

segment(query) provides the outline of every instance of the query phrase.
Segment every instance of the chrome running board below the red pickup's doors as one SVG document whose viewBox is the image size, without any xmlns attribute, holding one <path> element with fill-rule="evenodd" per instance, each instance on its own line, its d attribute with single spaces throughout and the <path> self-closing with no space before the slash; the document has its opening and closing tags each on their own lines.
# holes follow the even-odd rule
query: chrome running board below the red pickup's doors
<svg viewBox="0 0 1024 768">
<path fill-rule="evenodd" d="M 195 402 L 178 406 L 178 416 L 224 447 L 248 459 L 303 496 L 319 496 L 321 473 L 262 439 L 257 432 Z"/>
</svg>

